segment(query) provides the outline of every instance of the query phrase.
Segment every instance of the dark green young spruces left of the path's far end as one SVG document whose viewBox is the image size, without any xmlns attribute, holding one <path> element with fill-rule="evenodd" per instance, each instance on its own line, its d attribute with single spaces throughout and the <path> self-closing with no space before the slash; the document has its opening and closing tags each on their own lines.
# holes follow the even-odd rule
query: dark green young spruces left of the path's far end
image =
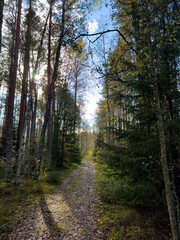
<svg viewBox="0 0 180 240">
<path fill-rule="evenodd" d="M 74 97 L 65 85 L 59 87 L 59 94 L 63 99 L 58 99 L 59 104 L 64 104 L 62 115 L 54 113 L 52 135 L 52 166 L 62 168 L 64 164 L 80 163 L 82 156 L 79 146 L 79 136 L 75 132 L 80 121 L 79 113 L 74 112 Z M 77 112 L 78 106 L 77 106 Z"/>
</svg>

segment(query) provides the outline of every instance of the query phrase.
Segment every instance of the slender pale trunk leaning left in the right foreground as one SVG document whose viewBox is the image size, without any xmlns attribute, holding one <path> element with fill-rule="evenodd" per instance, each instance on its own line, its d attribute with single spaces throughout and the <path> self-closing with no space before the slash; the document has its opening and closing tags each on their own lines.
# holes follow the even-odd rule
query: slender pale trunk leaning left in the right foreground
<svg viewBox="0 0 180 240">
<path fill-rule="evenodd" d="M 153 52 L 152 42 L 151 42 L 150 14 L 149 14 L 147 5 L 145 6 L 145 11 L 146 11 L 146 18 L 147 18 L 147 31 L 148 31 L 147 34 L 148 34 L 149 54 L 150 54 L 150 60 L 151 60 L 151 75 L 153 78 L 153 93 L 154 93 L 155 106 L 156 106 L 156 115 L 158 119 L 159 140 L 160 140 L 160 148 L 161 148 L 161 165 L 163 169 L 163 177 L 164 177 L 164 183 L 165 183 L 166 202 L 168 206 L 173 240 L 178 240 L 179 231 L 178 231 L 177 215 L 176 215 L 175 201 L 174 201 L 172 188 L 171 188 L 171 181 L 169 177 L 164 125 L 163 125 L 162 111 L 161 111 L 161 105 L 160 105 L 160 99 L 159 99 L 159 90 L 158 90 L 157 77 L 156 77 L 156 66 L 154 63 L 154 52 Z"/>
</svg>

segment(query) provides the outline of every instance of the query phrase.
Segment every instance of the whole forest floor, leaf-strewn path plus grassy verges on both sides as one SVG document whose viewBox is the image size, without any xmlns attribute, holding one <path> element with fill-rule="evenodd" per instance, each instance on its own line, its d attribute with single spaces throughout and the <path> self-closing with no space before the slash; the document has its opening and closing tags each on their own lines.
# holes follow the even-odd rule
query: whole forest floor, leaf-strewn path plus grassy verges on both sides
<svg viewBox="0 0 180 240">
<path fill-rule="evenodd" d="M 159 226 L 155 212 L 117 201 L 119 183 L 104 175 L 103 167 L 86 156 L 81 165 L 57 172 L 56 177 L 62 178 L 59 185 L 42 180 L 5 188 L 0 198 L 0 230 L 5 222 L 4 226 L 12 227 L 0 232 L 0 240 L 172 239 L 166 224 Z"/>
</svg>

